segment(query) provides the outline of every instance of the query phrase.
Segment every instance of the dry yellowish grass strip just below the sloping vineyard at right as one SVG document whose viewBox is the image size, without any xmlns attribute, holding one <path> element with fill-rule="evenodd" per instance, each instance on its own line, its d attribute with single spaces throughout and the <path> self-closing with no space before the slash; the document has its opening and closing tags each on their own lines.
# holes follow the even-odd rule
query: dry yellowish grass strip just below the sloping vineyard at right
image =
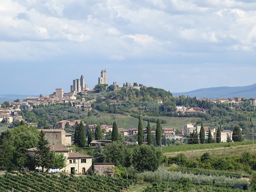
<svg viewBox="0 0 256 192">
<path fill-rule="evenodd" d="M 234 147 L 225 147 L 221 149 L 206 149 L 206 150 L 195 150 L 195 151 L 187 151 L 187 152 L 172 152 L 165 153 L 164 155 L 167 157 L 176 156 L 179 153 L 183 153 L 187 156 L 188 159 L 192 160 L 197 158 L 198 156 L 202 156 L 205 152 L 209 152 L 211 156 L 214 157 L 227 157 L 227 156 L 236 156 L 242 154 L 244 151 L 254 153 L 256 150 L 256 146 L 252 145 L 244 145 L 244 146 L 234 146 Z"/>
</svg>

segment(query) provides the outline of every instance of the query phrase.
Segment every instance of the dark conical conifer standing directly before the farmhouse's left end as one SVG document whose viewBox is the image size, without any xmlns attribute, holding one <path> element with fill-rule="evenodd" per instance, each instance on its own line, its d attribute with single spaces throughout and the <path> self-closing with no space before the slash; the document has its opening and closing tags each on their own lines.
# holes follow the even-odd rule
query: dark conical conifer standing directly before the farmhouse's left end
<svg viewBox="0 0 256 192">
<path fill-rule="evenodd" d="M 44 172 L 44 168 L 48 170 L 53 166 L 52 159 L 53 153 L 50 151 L 48 141 L 44 138 L 44 132 L 41 130 L 37 151 L 35 153 L 35 165 L 42 167 L 42 172 Z"/>
</svg>

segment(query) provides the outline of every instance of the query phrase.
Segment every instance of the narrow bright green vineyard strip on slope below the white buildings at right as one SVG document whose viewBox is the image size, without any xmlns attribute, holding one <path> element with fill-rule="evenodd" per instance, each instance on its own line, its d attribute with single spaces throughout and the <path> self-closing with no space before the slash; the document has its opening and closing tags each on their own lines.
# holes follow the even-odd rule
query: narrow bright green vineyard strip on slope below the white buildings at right
<svg viewBox="0 0 256 192">
<path fill-rule="evenodd" d="M 193 145 L 176 145 L 176 146 L 162 146 L 163 153 L 190 151 L 190 150 L 203 150 L 203 149 L 214 149 L 240 145 L 250 145 L 252 141 L 244 142 L 230 142 L 230 143 L 210 143 L 210 144 L 193 144 Z"/>
</svg>

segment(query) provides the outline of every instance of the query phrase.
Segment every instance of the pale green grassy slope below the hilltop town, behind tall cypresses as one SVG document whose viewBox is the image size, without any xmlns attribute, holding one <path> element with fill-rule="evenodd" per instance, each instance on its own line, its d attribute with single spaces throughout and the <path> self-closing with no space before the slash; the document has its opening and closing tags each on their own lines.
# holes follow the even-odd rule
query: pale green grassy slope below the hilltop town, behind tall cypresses
<svg viewBox="0 0 256 192">
<path fill-rule="evenodd" d="M 150 116 L 143 116 L 151 118 Z M 130 128 L 137 128 L 138 127 L 138 119 L 131 117 L 131 116 L 125 116 L 121 114 L 110 114 L 110 113 L 100 113 L 100 117 L 98 116 L 89 116 L 84 118 L 86 119 L 93 119 L 95 121 L 97 120 L 109 120 L 110 122 L 116 121 L 118 128 L 124 128 L 124 129 L 130 129 Z M 177 130 L 180 130 L 183 128 L 184 124 L 187 123 L 192 123 L 196 124 L 196 121 L 199 120 L 200 118 L 190 118 L 190 117 L 152 117 L 152 118 L 159 118 L 160 120 L 166 120 L 166 124 L 162 124 L 163 128 L 174 128 Z M 142 121 L 143 128 L 146 128 L 147 126 L 146 121 Z M 156 123 L 150 123 L 150 126 L 156 126 Z"/>
</svg>

